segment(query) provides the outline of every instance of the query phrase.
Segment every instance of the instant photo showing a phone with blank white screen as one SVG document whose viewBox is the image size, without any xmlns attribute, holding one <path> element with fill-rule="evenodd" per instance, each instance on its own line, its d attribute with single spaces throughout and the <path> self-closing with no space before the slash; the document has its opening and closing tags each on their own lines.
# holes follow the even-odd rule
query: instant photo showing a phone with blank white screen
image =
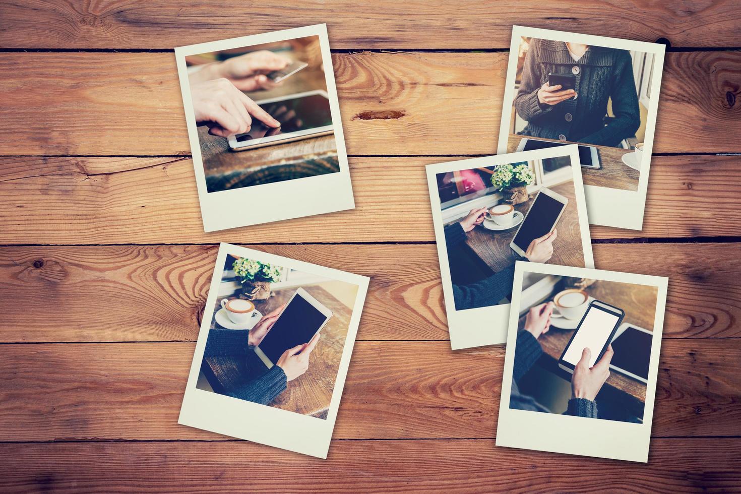
<svg viewBox="0 0 741 494">
<path fill-rule="evenodd" d="M 518 262 L 497 446 L 647 461 L 667 283 Z"/>
</svg>

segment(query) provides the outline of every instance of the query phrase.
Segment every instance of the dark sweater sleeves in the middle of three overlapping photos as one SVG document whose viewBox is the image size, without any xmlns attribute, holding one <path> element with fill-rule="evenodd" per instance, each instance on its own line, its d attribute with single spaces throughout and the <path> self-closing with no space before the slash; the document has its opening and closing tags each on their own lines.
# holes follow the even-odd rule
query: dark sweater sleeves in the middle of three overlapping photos
<svg viewBox="0 0 741 494">
<path fill-rule="evenodd" d="M 445 227 L 445 245 L 450 252 L 451 247 L 465 241 L 465 232 L 460 223 L 449 224 Z M 516 260 L 527 261 L 524 257 L 517 256 Z M 453 301 L 456 310 L 473 309 L 476 307 L 487 307 L 497 304 L 502 298 L 512 294 L 512 282 L 514 281 L 514 262 L 510 267 L 494 273 L 492 276 L 476 281 L 472 284 L 453 284 Z"/>
</svg>

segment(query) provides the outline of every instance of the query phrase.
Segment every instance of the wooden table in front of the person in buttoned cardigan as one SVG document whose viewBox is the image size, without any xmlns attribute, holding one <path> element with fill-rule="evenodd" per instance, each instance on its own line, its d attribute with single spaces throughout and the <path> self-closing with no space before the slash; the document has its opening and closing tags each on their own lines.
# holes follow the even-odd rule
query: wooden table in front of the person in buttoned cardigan
<svg viewBox="0 0 741 494">
<path fill-rule="evenodd" d="M 519 145 L 519 141 L 525 137 L 526 136 L 510 134 L 507 141 L 507 152 L 514 153 Z M 545 138 L 538 138 L 538 140 L 562 142 L 556 139 Z M 568 142 L 567 144 L 576 143 Z M 621 149 L 619 147 L 595 146 L 594 144 L 589 145 L 597 147 L 599 163 L 602 164 L 602 168 L 599 170 L 582 168 L 582 181 L 585 185 L 609 187 L 611 189 L 638 190 L 638 178 L 640 177 L 640 172 L 628 167 L 627 164 L 622 162 L 622 156 L 628 153 L 633 153 L 633 150 Z"/>
</svg>

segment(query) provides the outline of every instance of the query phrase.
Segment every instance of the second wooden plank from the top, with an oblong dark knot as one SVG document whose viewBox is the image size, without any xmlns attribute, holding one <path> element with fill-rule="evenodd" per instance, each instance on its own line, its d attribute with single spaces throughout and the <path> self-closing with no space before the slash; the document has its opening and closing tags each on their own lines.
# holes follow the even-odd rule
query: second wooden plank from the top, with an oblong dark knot
<svg viewBox="0 0 741 494">
<path fill-rule="evenodd" d="M 495 154 L 507 55 L 336 53 L 348 154 Z M 1 53 L 0 70 L 0 155 L 190 154 L 170 53 Z M 741 133 L 740 73 L 740 52 L 668 53 L 654 153 L 741 152 L 718 138 Z"/>
</svg>

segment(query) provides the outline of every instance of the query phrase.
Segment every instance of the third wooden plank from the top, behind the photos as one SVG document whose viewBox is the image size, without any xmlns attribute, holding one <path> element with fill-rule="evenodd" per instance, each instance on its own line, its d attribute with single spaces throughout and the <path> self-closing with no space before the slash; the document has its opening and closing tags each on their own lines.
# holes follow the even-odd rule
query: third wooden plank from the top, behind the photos
<svg viewBox="0 0 741 494">
<path fill-rule="evenodd" d="M 0 158 L 0 244 L 433 241 L 425 165 L 455 160 L 350 158 L 355 210 L 203 233 L 190 159 Z M 741 236 L 740 196 L 741 156 L 655 157 L 643 230 L 591 238 Z"/>
</svg>

